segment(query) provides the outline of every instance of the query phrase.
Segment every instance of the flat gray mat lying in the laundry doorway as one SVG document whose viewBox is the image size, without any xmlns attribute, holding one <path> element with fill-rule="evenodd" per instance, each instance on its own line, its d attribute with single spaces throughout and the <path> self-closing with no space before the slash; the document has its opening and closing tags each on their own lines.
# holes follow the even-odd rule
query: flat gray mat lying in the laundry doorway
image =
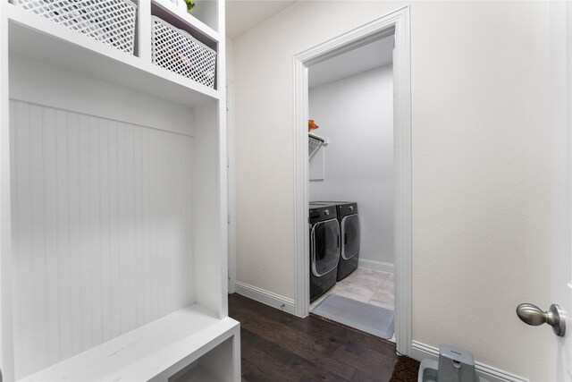
<svg viewBox="0 0 572 382">
<path fill-rule="evenodd" d="M 317 304 L 312 313 L 355 327 L 371 335 L 391 338 L 393 335 L 393 310 L 383 309 L 366 302 L 351 300 L 338 294 L 328 294 Z"/>
</svg>

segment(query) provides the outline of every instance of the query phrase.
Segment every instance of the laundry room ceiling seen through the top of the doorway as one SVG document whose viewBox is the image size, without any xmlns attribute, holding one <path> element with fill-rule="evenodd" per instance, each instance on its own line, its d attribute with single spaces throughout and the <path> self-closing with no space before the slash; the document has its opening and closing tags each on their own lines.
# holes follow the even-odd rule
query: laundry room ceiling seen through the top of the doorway
<svg viewBox="0 0 572 382">
<path fill-rule="evenodd" d="M 310 66 L 308 68 L 309 87 L 314 88 L 391 64 L 393 62 L 393 41 L 391 35 Z"/>
</svg>

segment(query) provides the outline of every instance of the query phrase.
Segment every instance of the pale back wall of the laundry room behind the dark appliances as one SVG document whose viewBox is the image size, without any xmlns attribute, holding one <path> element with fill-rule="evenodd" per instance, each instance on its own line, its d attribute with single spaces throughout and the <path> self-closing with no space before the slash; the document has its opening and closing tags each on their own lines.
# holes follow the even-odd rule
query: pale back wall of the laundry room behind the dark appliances
<svg viewBox="0 0 572 382">
<path fill-rule="evenodd" d="M 324 181 L 310 182 L 309 199 L 357 201 L 359 259 L 393 264 L 391 65 L 312 88 L 308 104 L 315 132 L 330 141 Z"/>
</svg>

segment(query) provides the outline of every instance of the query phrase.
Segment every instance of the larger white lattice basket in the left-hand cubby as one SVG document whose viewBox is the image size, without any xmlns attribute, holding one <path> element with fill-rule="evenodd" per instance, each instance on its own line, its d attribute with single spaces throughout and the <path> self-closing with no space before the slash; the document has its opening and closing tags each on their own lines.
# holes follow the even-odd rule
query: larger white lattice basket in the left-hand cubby
<svg viewBox="0 0 572 382">
<path fill-rule="evenodd" d="M 26 11 L 133 54 L 137 5 L 130 0 L 12 1 Z"/>
</svg>

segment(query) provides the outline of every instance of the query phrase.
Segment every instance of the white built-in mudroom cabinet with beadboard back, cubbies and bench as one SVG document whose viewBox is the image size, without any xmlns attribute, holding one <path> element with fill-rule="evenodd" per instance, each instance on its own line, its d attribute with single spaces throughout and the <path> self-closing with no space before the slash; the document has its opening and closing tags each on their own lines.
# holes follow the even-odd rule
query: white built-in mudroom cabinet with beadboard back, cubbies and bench
<svg viewBox="0 0 572 382">
<path fill-rule="evenodd" d="M 0 2 L 3 380 L 237 381 L 224 2 L 139 0 L 135 55 Z M 217 51 L 151 61 L 151 16 Z"/>
</svg>

